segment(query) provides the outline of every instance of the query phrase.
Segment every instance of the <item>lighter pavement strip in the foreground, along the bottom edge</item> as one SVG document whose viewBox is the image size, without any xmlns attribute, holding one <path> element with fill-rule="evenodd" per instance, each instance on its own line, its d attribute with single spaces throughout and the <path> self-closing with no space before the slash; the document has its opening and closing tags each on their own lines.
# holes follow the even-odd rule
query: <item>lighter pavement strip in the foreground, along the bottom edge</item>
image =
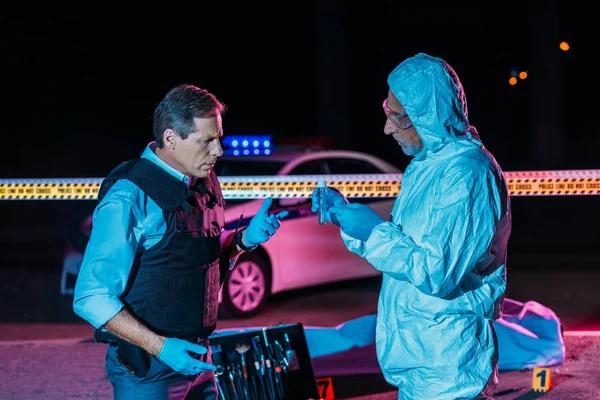
<svg viewBox="0 0 600 400">
<path fill-rule="evenodd" d="M 496 391 L 498 400 L 597 399 L 600 398 L 599 338 L 566 339 L 567 362 L 552 369 L 554 388 L 549 392 L 531 389 L 531 371 L 500 374 Z M 63 400 L 112 399 L 112 389 L 104 371 L 104 345 L 73 341 L 41 343 L 0 343 L 0 399 L 3 400 Z M 348 382 L 336 388 L 336 398 L 383 400 L 395 399 L 397 393 L 386 385 L 365 388 L 366 382 L 378 382 L 372 377 L 354 377 L 357 392 L 349 393 Z"/>
</svg>

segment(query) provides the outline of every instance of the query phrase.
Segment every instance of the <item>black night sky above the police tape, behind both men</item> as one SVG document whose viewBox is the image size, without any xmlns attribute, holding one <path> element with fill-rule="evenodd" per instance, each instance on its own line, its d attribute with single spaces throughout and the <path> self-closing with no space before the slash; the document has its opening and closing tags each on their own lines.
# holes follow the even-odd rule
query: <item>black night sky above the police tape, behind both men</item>
<svg viewBox="0 0 600 400">
<path fill-rule="evenodd" d="M 142 151 L 151 140 L 154 107 L 168 88 L 183 82 L 209 89 L 229 106 L 225 134 L 264 133 L 275 139 L 325 134 L 318 131 L 323 78 L 317 73 L 317 2 L 304 3 L 5 3 L 1 109 L 5 140 L 14 142 L 5 142 L 0 176 L 104 176 Z M 382 134 L 380 103 L 391 69 L 423 51 L 454 66 L 471 122 L 504 168 L 535 168 L 528 82 L 507 83 L 512 67 L 528 66 L 527 8 L 518 9 L 516 2 L 440 4 L 378 0 L 339 11 L 348 73 L 347 91 L 340 96 L 351 97 L 347 113 L 340 115 L 351 119 L 346 147 L 399 166 L 408 162 Z M 598 168 L 591 153 L 572 149 L 598 136 L 594 110 L 574 89 L 598 87 L 587 81 L 597 76 L 585 67 L 595 50 L 587 15 L 561 10 L 561 37 L 573 46 L 561 54 L 563 112 L 568 119 L 580 103 L 588 108 L 577 112 L 579 129 L 564 130 L 570 146 L 565 168 Z"/>
</svg>

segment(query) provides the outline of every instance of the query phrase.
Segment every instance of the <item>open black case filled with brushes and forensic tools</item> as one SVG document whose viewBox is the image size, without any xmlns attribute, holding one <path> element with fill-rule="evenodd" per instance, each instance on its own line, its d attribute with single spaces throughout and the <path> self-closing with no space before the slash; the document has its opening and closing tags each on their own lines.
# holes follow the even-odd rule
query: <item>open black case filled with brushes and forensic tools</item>
<svg viewBox="0 0 600 400">
<path fill-rule="evenodd" d="M 210 336 L 220 400 L 319 399 L 302 324 Z"/>
</svg>

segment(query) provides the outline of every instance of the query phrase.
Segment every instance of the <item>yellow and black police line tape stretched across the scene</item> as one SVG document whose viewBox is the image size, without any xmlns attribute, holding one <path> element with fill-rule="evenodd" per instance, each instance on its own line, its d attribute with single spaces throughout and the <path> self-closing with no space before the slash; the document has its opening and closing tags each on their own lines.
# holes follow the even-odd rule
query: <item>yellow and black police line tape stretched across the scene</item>
<svg viewBox="0 0 600 400">
<path fill-rule="evenodd" d="M 600 170 L 505 172 L 511 196 L 600 195 Z M 0 200 L 94 200 L 104 178 L 0 179 Z M 402 174 L 219 177 L 228 200 L 308 198 L 324 180 L 348 198 L 389 198 Z"/>
</svg>

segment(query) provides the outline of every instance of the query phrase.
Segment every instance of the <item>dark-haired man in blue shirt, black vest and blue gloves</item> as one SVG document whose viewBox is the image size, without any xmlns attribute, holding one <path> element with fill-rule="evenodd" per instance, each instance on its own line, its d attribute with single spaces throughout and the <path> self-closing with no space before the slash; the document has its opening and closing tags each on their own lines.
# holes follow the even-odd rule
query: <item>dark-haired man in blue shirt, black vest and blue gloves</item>
<svg viewBox="0 0 600 400">
<path fill-rule="evenodd" d="M 114 339 L 106 370 L 115 399 L 217 397 L 207 338 L 220 284 L 287 215 L 268 215 L 268 198 L 247 229 L 221 241 L 213 167 L 225 109 L 204 89 L 171 89 L 154 112 L 154 142 L 102 182 L 73 308 Z"/>
</svg>

